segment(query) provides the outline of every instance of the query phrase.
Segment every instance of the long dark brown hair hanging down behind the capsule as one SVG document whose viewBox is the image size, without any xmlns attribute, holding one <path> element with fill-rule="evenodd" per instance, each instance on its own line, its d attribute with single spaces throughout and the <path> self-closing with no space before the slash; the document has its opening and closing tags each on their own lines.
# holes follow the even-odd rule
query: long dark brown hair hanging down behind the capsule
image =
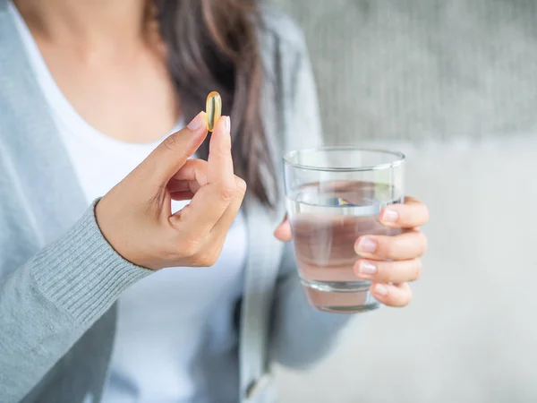
<svg viewBox="0 0 537 403">
<path fill-rule="evenodd" d="M 217 90 L 224 115 L 232 120 L 235 174 L 265 205 L 274 199 L 261 172 L 274 179 L 263 130 L 260 93 L 263 81 L 257 0 L 157 0 L 158 22 L 166 43 L 169 71 L 190 120 Z M 209 141 L 200 147 L 207 158 Z"/>
</svg>

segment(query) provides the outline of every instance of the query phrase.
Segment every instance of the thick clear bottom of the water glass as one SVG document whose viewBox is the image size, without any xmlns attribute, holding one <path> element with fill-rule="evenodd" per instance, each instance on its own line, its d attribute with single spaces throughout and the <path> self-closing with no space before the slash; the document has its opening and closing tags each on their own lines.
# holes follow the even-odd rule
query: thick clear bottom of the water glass
<svg viewBox="0 0 537 403">
<path fill-rule="evenodd" d="M 378 309 L 371 296 L 371 281 L 326 282 L 301 279 L 308 302 L 320 311 L 362 313 Z"/>
</svg>

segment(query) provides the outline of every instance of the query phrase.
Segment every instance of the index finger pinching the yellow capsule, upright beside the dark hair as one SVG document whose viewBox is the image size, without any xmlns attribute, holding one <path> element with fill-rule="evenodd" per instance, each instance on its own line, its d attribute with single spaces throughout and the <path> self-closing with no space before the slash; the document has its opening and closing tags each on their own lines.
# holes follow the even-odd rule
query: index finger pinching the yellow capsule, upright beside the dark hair
<svg viewBox="0 0 537 403">
<path fill-rule="evenodd" d="M 207 182 L 220 184 L 224 188 L 235 186 L 230 129 L 229 116 L 221 116 L 210 137 L 207 159 Z"/>
</svg>

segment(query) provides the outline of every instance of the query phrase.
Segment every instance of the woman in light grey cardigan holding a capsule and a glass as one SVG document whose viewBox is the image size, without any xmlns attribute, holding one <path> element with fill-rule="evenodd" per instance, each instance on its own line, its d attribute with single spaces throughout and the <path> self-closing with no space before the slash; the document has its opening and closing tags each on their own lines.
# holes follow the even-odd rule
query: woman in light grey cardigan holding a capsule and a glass
<svg viewBox="0 0 537 403">
<path fill-rule="evenodd" d="M 305 302 L 277 222 L 275 160 L 319 141 L 303 39 L 254 0 L 0 0 L 0 400 L 273 401 L 269 364 L 348 318 Z M 406 231 L 355 272 L 402 306 L 427 210 L 381 219 Z"/>
</svg>

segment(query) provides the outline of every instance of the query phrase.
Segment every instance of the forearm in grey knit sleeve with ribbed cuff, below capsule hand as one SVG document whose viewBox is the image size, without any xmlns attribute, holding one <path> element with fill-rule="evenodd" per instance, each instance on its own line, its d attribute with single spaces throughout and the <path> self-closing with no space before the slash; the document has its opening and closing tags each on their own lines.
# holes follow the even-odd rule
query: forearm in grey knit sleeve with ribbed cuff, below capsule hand
<svg viewBox="0 0 537 403">
<path fill-rule="evenodd" d="M 62 239 L 10 271 L 0 284 L 0 390 L 5 401 L 21 399 L 125 287 L 149 274 L 107 244 L 93 207 Z"/>
</svg>

